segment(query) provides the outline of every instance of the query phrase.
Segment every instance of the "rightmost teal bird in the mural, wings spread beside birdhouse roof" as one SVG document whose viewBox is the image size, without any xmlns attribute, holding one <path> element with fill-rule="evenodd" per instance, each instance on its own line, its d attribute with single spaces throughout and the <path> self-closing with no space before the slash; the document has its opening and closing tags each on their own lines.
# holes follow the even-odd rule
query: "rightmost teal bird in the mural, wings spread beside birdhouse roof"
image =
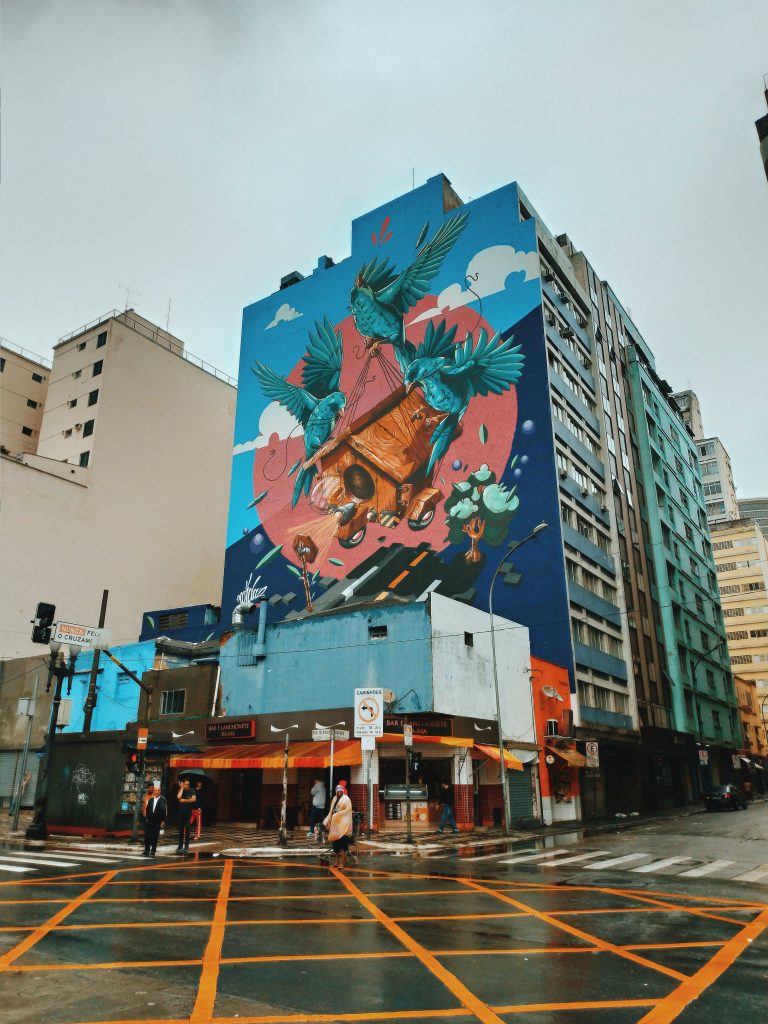
<svg viewBox="0 0 768 1024">
<path fill-rule="evenodd" d="M 470 400 L 476 394 L 502 394 L 520 379 L 525 356 L 520 345 L 512 345 L 513 340 L 504 341 L 496 334 L 488 341 L 481 328 L 476 346 L 467 333 L 465 341 L 454 346 L 453 353 L 424 352 L 423 346 L 419 349 L 403 376 L 406 390 L 420 387 L 427 404 L 444 414 L 429 438 L 432 454 L 427 472 L 447 452 Z"/>
</svg>

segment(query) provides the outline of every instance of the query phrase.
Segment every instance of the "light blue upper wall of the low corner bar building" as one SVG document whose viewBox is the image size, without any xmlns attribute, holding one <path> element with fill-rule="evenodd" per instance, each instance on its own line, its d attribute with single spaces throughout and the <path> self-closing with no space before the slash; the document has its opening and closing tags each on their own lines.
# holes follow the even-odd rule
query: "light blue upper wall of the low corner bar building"
<svg viewBox="0 0 768 1024">
<path fill-rule="evenodd" d="M 384 625 L 387 636 L 371 639 L 369 629 Z M 236 633 L 221 650 L 222 703 L 228 716 L 347 708 L 358 686 L 389 687 L 403 696 L 413 690 L 398 711 L 432 709 L 424 602 L 268 626 L 266 657 L 258 660 L 250 656 L 254 639 L 251 632 Z"/>
</svg>

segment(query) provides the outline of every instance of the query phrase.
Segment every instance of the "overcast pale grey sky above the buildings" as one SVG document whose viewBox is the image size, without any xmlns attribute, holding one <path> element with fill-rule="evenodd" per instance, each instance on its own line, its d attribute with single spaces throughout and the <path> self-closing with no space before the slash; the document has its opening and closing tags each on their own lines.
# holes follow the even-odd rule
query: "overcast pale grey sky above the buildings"
<svg viewBox="0 0 768 1024">
<path fill-rule="evenodd" d="M 766 0 L 2 0 L 0 334 L 122 308 L 237 375 L 242 307 L 442 171 L 518 180 L 768 494 Z"/>
</svg>

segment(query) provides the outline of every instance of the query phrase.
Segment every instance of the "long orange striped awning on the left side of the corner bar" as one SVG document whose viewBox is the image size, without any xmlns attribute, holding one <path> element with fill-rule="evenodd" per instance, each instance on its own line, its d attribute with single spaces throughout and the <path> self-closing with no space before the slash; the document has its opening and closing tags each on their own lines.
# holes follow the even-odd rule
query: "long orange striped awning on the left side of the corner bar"
<svg viewBox="0 0 768 1024">
<path fill-rule="evenodd" d="M 171 768 L 282 768 L 283 743 L 233 743 L 230 746 L 207 746 L 200 754 L 178 754 L 171 758 Z M 334 765 L 340 768 L 362 764 L 358 739 L 334 743 Z M 290 743 L 289 768 L 329 768 L 331 744 L 328 741 Z"/>
</svg>

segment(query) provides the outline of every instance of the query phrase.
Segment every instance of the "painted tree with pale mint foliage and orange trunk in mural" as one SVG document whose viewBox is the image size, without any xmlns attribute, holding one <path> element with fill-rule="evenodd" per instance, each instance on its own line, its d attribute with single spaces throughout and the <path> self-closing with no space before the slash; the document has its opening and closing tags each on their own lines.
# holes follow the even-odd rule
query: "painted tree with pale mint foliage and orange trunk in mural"
<svg viewBox="0 0 768 1024">
<path fill-rule="evenodd" d="M 469 551 L 464 555 L 468 562 L 481 562 L 485 557 L 479 549 L 479 542 L 485 541 L 492 547 L 503 544 L 512 516 L 520 501 L 517 488 L 509 490 L 503 483 L 497 483 L 496 473 L 486 465 L 470 473 L 466 480 L 454 484 L 453 492 L 445 499 L 445 525 L 450 544 L 460 544 L 466 535 Z"/>
</svg>

